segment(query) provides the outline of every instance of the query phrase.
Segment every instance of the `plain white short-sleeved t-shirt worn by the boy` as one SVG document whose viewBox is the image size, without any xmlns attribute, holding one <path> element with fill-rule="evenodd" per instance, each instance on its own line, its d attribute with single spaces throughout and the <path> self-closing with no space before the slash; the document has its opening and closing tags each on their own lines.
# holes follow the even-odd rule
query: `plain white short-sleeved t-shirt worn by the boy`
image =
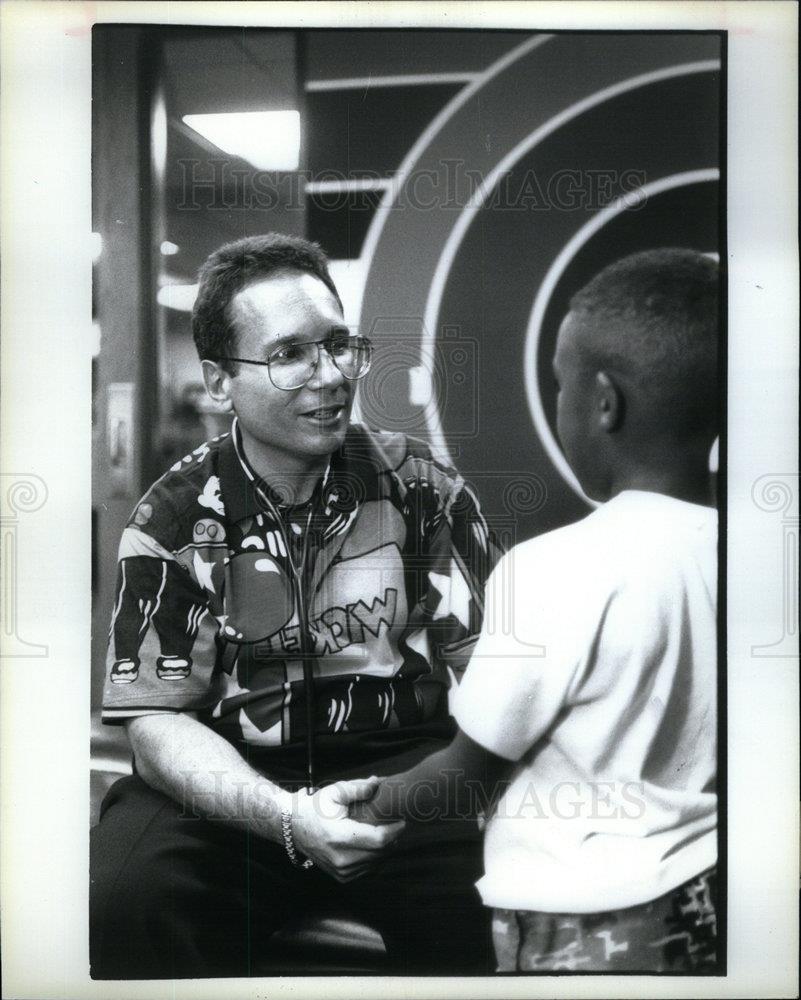
<svg viewBox="0 0 801 1000">
<path fill-rule="evenodd" d="M 488 906 L 643 903 L 717 859 L 717 514 L 626 491 L 515 547 L 455 696 L 518 761 L 486 828 Z"/>
</svg>

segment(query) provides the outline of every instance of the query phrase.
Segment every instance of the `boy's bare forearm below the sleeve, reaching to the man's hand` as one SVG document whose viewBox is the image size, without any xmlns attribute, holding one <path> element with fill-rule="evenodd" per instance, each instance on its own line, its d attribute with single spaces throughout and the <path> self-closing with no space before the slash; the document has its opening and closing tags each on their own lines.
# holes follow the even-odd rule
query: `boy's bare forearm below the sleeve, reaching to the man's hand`
<svg viewBox="0 0 801 1000">
<path fill-rule="evenodd" d="M 460 729 L 443 750 L 408 771 L 384 778 L 372 799 L 350 806 L 349 816 L 363 823 L 474 819 L 503 792 L 511 768 L 511 761 L 486 750 Z"/>
</svg>

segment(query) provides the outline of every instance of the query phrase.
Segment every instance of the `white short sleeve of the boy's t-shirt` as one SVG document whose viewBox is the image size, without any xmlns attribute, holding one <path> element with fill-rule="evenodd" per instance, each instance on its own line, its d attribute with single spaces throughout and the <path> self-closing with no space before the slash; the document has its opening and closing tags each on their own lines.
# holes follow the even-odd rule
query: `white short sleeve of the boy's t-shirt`
<svg viewBox="0 0 801 1000">
<path fill-rule="evenodd" d="M 547 546 L 527 543 L 501 559 L 454 697 L 456 721 L 471 739 L 519 760 L 549 729 L 581 663 L 577 617 L 565 560 L 553 558 Z"/>
</svg>

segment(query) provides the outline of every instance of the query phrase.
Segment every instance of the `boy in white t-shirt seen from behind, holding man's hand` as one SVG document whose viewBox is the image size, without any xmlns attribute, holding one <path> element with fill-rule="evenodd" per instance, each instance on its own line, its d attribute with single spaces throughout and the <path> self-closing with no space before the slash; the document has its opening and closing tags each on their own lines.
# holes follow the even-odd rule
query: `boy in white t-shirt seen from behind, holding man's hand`
<svg viewBox="0 0 801 1000">
<path fill-rule="evenodd" d="M 662 249 L 573 298 L 557 430 L 602 506 L 501 560 L 459 734 L 354 810 L 463 815 L 505 779 L 478 883 L 499 971 L 716 971 L 718 291 Z"/>
</svg>

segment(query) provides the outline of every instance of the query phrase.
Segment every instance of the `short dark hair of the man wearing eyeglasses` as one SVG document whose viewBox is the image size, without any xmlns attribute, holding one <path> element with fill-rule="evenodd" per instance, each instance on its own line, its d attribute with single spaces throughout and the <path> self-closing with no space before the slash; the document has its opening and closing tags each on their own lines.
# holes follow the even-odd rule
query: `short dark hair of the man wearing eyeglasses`
<svg viewBox="0 0 801 1000">
<path fill-rule="evenodd" d="M 198 275 L 198 293 L 192 309 L 192 336 L 202 359 L 215 360 L 232 353 L 235 330 L 231 300 L 242 289 L 279 271 L 303 271 L 319 278 L 342 308 L 328 258 L 317 243 L 300 236 L 266 233 L 226 243 L 208 258 Z"/>
</svg>

